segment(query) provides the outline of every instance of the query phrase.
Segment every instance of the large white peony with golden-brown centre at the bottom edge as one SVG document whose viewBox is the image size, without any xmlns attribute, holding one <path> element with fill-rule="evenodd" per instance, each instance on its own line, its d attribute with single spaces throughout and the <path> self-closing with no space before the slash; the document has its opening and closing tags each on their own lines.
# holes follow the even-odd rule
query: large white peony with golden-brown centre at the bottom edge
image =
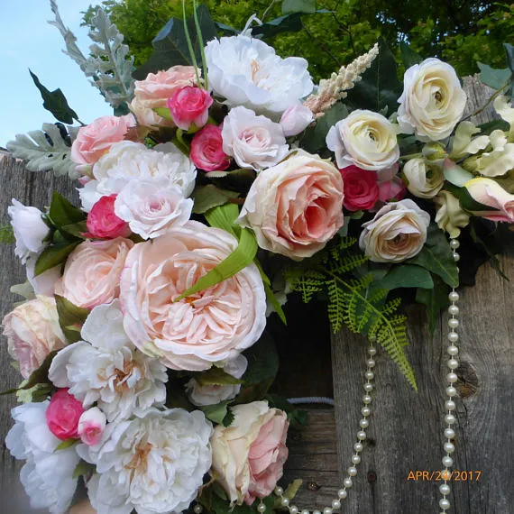
<svg viewBox="0 0 514 514">
<path fill-rule="evenodd" d="M 98 445 L 78 445 L 82 458 L 96 464 L 87 482 L 91 505 L 102 514 L 188 509 L 211 466 L 211 433 L 202 412 L 182 408 L 107 425 Z"/>
</svg>

